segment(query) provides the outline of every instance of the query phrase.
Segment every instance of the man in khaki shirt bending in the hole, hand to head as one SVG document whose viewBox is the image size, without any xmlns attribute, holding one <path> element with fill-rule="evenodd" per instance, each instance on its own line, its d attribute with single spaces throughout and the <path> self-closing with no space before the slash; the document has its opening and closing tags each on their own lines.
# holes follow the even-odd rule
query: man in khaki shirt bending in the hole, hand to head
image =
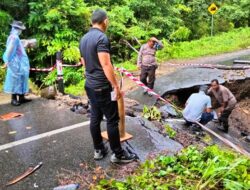
<svg viewBox="0 0 250 190">
<path fill-rule="evenodd" d="M 220 105 L 218 117 L 223 126 L 218 127 L 218 129 L 228 132 L 228 117 L 237 103 L 236 98 L 228 88 L 220 85 L 217 79 L 212 80 L 208 93 L 214 95 Z"/>
</svg>

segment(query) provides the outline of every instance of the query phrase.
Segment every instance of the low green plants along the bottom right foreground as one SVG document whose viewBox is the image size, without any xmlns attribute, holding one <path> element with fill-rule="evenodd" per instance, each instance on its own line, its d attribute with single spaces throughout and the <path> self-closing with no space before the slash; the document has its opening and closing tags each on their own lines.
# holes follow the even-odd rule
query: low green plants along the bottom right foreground
<svg viewBox="0 0 250 190">
<path fill-rule="evenodd" d="M 124 182 L 102 180 L 95 189 L 247 190 L 250 160 L 232 151 L 210 146 L 188 147 L 176 156 L 148 160 Z"/>
</svg>

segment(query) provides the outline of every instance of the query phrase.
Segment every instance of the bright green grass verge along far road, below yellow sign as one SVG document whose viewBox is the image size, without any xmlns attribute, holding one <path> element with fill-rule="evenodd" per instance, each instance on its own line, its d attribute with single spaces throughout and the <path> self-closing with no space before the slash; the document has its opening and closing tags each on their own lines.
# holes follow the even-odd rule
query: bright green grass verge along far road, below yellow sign
<svg viewBox="0 0 250 190">
<path fill-rule="evenodd" d="M 213 37 L 167 44 L 158 52 L 160 61 L 168 59 L 192 59 L 245 49 L 250 46 L 250 28 L 238 28 Z"/>
</svg>

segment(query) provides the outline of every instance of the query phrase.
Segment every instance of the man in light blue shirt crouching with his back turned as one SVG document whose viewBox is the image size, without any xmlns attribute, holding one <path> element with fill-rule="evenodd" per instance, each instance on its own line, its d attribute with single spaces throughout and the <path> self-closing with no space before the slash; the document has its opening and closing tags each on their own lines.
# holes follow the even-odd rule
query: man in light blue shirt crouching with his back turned
<svg viewBox="0 0 250 190">
<path fill-rule="evenodd" d="M 213 119 L 211 98 L 206 95 L 207 89 L 206 85 L 200 86 L 199 92 L 188 98 L 183 111 L 183 117 L 188 125 L 196 121 L 206 125 Z M 195 129 L 196 126 L 193 125 L 193 127 Z"/>
</svg>

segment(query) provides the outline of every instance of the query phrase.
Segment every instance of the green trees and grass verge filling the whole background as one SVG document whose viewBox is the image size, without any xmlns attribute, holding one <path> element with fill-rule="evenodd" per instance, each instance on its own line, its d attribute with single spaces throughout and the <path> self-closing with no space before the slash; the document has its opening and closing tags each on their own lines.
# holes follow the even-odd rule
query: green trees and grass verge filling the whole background
<svg viewBox="0 0 250 190">
<path fill-rule="evenodd" d="M 108 11 L 110 27 L 108 36 L 112 47 L 112 61 L 117 66 L 136 70 L 136 52 L 151 36 L 164 41 L 165 48 L 157 55 L 160 62 L 168 59 L 190 59 L 213 55 L 250 46 L 250 2 L 248 0 L 216 2 L 219 7 L 214 15 L 215 37 L 210 36 L 211 14 L 207 11 L 210 0 L 6 0 L 0 2 L 0 55 L 5 49 L 6 38 L 13 19 L 22 20 L 27 30 L 22 38 L 36 38 L 38 47 L 29 49 L 32 67 L 47 68 L 55 63 L 55 53 L 63 51 L 67 64 L 79 61 L 79 39 L 89 29 L 91 12 L 101 7 Z M 1 62 L 1 61 L 0 61 Z M 71 69 L 69 76 L 81 74 Z M 31 74 L 36 84 L 50 85 L 55 75 Z M 1 78 L 1 77 L 0 77 Z M 44 81 L 44 79 L 48 81 Z M 84 77 L 65 81 L 66 91 L 81 94 L 78 89 Z M 78 81 L 78 82 L 77 82 Z M 2 79 L 0 83 L 2 84 Z M 74 89 L 75 88 L 75 89 Z"/>
</svg>

